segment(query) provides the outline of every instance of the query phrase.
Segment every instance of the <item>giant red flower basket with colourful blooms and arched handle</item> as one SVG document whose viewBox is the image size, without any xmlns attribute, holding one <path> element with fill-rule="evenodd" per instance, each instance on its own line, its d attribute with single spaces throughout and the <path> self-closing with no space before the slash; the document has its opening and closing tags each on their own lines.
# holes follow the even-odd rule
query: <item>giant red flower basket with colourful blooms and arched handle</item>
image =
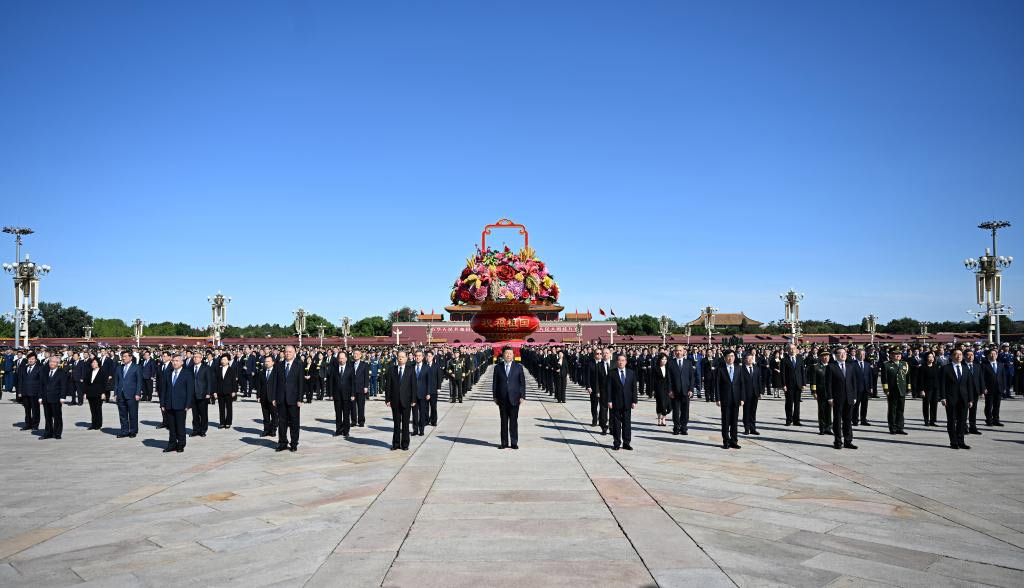
<svg viewBox="0 0 1024 588">
<path fill-rule="evenodd" d="M 518 227 L 525 238 L 522 249 L 487 247 L 486 236 L 492 227 Z M 495 344 L 495 354 L 510 345 L 518 356 L 520 345 L 541 326 L 530 306 L 557 303 L 558 284 L 529 247 L 526 228 L 502 219 L 484 228 L 480 247 L 466 259 L 466 266 L 452 287 L 452 302 L 478 304 L 480 311 L 473 316 L 470 328 Z"/>
</svg>

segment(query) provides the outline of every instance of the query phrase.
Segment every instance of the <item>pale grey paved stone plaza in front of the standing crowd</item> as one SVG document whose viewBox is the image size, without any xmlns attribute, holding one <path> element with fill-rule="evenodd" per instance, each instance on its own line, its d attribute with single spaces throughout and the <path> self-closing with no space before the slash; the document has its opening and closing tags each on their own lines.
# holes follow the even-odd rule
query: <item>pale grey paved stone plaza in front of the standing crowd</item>
<svg viewBox="0 0 1024 588">
<path fill-rule="evenodd" d="M 302 409 L 298 453 L 275 453 L 249 401 L 233 429 L 164 454 L 156 404 L 139 438 L 115 437 L 106 405 L 102 432 L 67 407 L 63 438 L 40 440 L 12 426 L 22 407 L 5 394 L 0 584 L 1024 586 L 1024 402 L 971 451 L 921 426 L 916 403 L 909 436 L 886 434 L 873 402 L 860 449 L 836 451 L 809 398 L 802 428 L 763 400 L 762 435 L 736 451 L 714 405 L 694 402 L 683 437 L 645 400 L 636 451 L 612 452 L 568 395 L 531 384 L 519 451 L 496 449 L 489 402 L 439 405 L 408 452 L 389 451 L 382 402 L 347 440 L 319 402 Z"/>
</svg>

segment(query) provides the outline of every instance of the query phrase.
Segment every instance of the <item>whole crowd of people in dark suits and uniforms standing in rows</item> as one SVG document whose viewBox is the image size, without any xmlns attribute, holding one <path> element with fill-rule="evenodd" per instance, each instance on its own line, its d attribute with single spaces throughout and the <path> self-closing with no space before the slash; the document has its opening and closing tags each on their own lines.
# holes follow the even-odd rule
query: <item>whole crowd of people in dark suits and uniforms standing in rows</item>
<svg viewBox="0 0 1024 588">
<path fill-rule="evenodd" d="M 890 434 L 907 434 L 907 402 L 921 402 L 925 426 L 939 426 L 944 409 L 949 445 L 970 449 L 967 435 L 1002 426 L 999 407 L 1024 389 L 1024 347 L 980 343 L 903 346 L 525 345 L 495 358 L 489 346 L 305 347 L 226 346 L 5 349 L 2 390 L 25 409 L 22 428 L 61 438 L 62 407 L 88 404 L 89 429 L 99 429 L 103 403 L 118 408 L 119 438 L 138 434 L 140 403 L 159 403 L 168 431 L 166 452 L 183 452 L 188 436 L 206 436 L 211 406 L 218 428 L 232 426 L 233 403 L 252 398 L 262 410 L 263 436 L 278 451 L 297 451 L 300 407 L 328 401 L 335 435 L 366 426 L 366 403 L 380 397 L 391 410 L 392 450 L 437 424 L 437 403 L 461 403 L 485 369 L 496 364 L 492 396 L 499 406 L 502 449 L 518 449 L 518 408 L 526 398 L 525 373 L 556 403 L 569 381 L 589 396 L 591 426 L 611 434 L 612 449 L 632 449 L 632 411 L 652 401 L 658 426 L 686 435 L 690 403 L 721 407 L 722 446 L 739 449 L 742 434 L 759 435 L 758 402 L 784 398 L 785 425 L 803 426 L 801 405 L 814 403 L 818 434 L 836 449 L 856 449 L 853 427 L 867 420 L 872 400 L 886 403 Z M 40 414 L 42 412 L 42 415 Z M 805 411 L 806 414 L 806 411 Z"/>
</svg>

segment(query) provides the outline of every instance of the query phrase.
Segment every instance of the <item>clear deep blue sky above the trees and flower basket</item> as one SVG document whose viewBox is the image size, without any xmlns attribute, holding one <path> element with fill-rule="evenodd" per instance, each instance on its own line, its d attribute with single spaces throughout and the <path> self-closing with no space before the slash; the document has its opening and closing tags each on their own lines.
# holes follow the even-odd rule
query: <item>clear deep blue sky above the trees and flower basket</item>
<svg viewBox="0 0 1024 588">
<path fill-rule="evenodd" d="M 6 0 L 2 223 L 43 299 L 126 320 L 440 309 L 501 217 L 569 310 L 964 320 L 979 221 L 1024 289 L 1022 30 L 1016 0 Z"/>
</svg>

